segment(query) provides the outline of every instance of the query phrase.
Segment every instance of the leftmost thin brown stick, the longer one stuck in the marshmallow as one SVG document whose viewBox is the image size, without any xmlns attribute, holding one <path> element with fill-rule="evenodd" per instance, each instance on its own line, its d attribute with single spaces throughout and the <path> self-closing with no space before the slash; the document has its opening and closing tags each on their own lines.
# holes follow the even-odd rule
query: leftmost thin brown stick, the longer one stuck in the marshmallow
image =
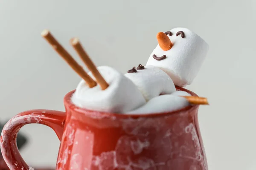
<svg viewBox="0 0 256 170">
<path fill-rule="evenodd" d="M 55 40 L 52 34 L 48 30 L 44 30 L 41 33 L 41 36 L 44 37 L 52 48 L 76 71 L 79 76 L 84 79 L 87 85 L 90 88 L 93 88 L 97 83 L 84 71 L 84 69 L 73 59 L 73 57 L 61 46 L 61 44 Z"/>
</svg>

